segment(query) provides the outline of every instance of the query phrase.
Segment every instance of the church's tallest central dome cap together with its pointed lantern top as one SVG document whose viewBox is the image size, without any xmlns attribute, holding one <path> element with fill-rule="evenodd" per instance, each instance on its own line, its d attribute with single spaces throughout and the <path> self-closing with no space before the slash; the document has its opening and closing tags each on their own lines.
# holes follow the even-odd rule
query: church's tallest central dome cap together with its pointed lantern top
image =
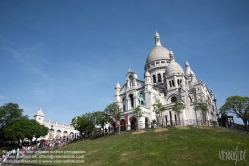
<svg viewBox="0 0 249 166">
<path fill-rule="evenodd" d="M 146 64 L 155 60 L 161 60 L 161 59 L 170 60 L 169 50 L 161 45 L 160 36 L 157 32 L 154 38 L 156 46 L 150 51 L 149 55 L 147 56 Z"/>
</svg>

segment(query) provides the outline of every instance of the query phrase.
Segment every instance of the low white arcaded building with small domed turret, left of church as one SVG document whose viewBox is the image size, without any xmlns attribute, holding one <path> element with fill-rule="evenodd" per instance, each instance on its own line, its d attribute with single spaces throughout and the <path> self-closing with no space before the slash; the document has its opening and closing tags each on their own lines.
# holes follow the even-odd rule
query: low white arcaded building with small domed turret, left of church
<svg viewBox="0 0 249 166">
<path fill-rule="evenodd" d="M 40 108 L 37 113 L 34 115 L 34 119 L 39 122 L 41 125 L 44 125 L 49 128 L 49 132 L 46 136 L 41 137 L 40 139 L 52 140 L 59 137 L 69 137 L 74 138 L 78 136 L 79 131 L 75 130 L 72 125 L 66 125 L 64 123 L 52 122 L 44 120 L 44 113 Z"/>
</svg>

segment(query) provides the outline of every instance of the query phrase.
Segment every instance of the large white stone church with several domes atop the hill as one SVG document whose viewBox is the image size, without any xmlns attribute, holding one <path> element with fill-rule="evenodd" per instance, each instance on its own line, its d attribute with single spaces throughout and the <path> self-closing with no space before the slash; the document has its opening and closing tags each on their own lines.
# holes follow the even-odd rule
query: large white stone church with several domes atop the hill
<svg viewBox="0 0 249 166">
<path fill-rule="evenodd" d="M 183 70 L 174 53 L 162 46 L 157 32 L 154 39 L 155 47 L 148 54 L 144 66 L 144 80 L 139 80 L 137 74 L 129 69 L 124 85 L 121 87 L 117 83 L 115 87 L 114 101 L 123 111 L 121 130 L 134 129 L 136 118 L 132 111 L 138 106 L 144 112 L 143 117 L 138 119 L 139 128 L 150 128 L 153 120 L 163 126 L 178 125 L 179 118 L 181 125 L 195 125 L 197 120 L 217 121 L 213 92 L 203 81 L 197 81 L 188 62 Z M 172 111 L 177 99 L 185 105 L 180 117 Z M 194 110 L 197 101 L 206 103 L 206 113 Z M 156 102 L 161 102 L 165 109 L 160 117 L 153 111 Z M 117 126 L 117 123 L 113 125 Z"/>
</svg>

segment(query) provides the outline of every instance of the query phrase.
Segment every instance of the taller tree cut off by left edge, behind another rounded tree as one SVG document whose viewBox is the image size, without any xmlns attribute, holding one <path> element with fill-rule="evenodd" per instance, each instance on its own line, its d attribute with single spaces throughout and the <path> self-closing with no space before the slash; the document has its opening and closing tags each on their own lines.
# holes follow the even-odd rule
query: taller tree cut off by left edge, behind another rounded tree
<svg viewBox="0 0 249 166">
<path fill-rule="evenodd" d="M 3 130 L 20 119 L 28 119 L 24 116 L 23 109 L 16 103 L 7 103 L 0 107 L 0 140 L 4 139 Z"/>
</svg>

